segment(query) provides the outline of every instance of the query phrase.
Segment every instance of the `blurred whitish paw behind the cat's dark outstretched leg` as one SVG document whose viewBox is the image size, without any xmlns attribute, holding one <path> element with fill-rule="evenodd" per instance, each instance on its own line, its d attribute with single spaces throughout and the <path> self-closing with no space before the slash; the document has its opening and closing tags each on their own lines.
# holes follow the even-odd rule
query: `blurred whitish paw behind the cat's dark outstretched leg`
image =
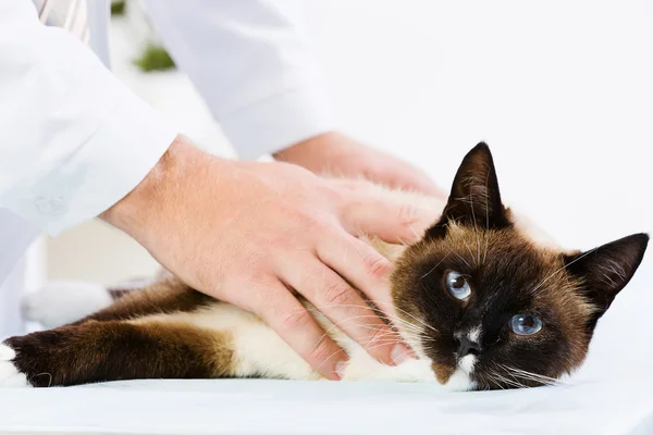
<svg viewBox="0 0 653 435">
<path fill-rule="evenodd" d="M 111 295 L 100 285 L 52 282 L 25 296 L 23 315 L 51 328 L 75 322 L 111 303 Z"/>
</svg>

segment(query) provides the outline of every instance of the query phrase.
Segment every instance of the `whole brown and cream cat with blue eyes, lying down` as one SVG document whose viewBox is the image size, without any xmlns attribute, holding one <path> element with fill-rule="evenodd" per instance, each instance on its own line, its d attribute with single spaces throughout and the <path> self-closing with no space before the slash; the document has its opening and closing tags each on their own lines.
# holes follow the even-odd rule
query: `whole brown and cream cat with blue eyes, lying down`
<svg viewBox="0 0 653 435">
<path fill-rule="evenodd" d="M 416 192 L 390 191 L 418 201 Z M 441 207 L 441 206 L 440 206 Z M 444 390 L 550 385 L 583 362 L 599 319 L 648 246 L 634 234 L 564 250 L 504 207 L 489 147 L 464 158 L 441 217 L 410 245 L 364 238 L 394 262 L 390 319 L 417 359 L 383 365 L 307 301 L 349 355 L 343 380 L 432 382 Z M 104 291 L 113 303 L 0 345 L 0 386 L 66 386 L 134 378 L 320 380 L 255 314 L 175 277 Z"/>
</svg>

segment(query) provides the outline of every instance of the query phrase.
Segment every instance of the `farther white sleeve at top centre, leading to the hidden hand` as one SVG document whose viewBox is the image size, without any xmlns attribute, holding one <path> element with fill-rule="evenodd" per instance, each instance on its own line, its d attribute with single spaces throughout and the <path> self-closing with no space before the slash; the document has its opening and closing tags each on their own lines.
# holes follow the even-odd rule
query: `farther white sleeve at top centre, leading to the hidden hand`
<svg viewBox="0 0 653 435">
<path fill-rule="evenodd" d="M 159 37 L 238 154 L 335 129 L 299 0 L 149 0 Z"/>
</svg>

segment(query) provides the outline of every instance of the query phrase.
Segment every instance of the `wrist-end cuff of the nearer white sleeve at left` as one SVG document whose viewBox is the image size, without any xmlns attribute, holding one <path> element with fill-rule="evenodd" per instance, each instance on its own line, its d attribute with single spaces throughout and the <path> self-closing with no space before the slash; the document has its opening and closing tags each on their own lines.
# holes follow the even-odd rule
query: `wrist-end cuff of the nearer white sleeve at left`
<svg viewBox="0 0 653 435">
<path fill-rule="evenodd" d="M 138 97 L 125 97 L 64 164 L 7 207 L 53 236 L 97 216 L 134 189 L 177 130 Z"/>
</svg>

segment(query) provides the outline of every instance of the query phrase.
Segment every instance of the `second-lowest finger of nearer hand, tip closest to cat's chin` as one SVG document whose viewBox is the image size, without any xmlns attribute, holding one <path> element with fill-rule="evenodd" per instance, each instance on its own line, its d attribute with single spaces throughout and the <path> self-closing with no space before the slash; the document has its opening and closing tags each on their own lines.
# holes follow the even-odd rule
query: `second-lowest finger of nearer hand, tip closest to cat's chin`
<svg viewBox="0 0 653 435">
<path fill-rule="evenodd" d="M 296 266 L 296 262 L 291 263 L 295 266 L 282 274 L 286 284 L 304 295 L 318 311 L 372 357 L 393 364 L 393 355 L 401 353 L 404 344 L 358 291 L 317 259 L 300 268 Z M 401 348 L 394 350 L 396 346 Z"/>
</svg>

